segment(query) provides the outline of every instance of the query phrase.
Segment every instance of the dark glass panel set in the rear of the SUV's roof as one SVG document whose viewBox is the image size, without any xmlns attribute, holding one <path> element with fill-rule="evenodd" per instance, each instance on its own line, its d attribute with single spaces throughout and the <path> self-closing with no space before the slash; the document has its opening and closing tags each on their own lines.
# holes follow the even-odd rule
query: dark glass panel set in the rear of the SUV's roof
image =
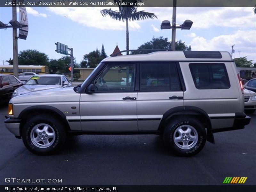
<svg viewBox="0 0 256 192">
<path fill-rule="evenodd" d="M 186 58 L 221 59 L 219 51 L 183 51 Z"/>
</svg>

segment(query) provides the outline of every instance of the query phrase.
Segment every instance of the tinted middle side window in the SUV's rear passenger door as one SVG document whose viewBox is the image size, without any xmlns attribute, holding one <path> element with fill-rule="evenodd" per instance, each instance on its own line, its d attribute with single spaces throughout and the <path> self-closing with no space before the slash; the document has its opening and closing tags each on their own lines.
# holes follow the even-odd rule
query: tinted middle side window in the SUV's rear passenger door
<svg viewBox="0 0 256 192">
<path fill-rule="evenodd" d="M 174 63 L 141 63 L 140 91 L 180 91 Z"/>
</svg>

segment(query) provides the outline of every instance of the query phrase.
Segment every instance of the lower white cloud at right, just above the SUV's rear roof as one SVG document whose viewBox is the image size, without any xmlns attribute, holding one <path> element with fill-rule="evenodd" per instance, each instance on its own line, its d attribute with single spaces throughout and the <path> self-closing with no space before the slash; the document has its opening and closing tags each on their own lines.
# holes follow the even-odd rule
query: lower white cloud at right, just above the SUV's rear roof
<svg viewBox="0 0 256 192">
<path fill-rule="evenodd" d="M 245 36 L 246 34 L 246 36 Z M 236 53 L 233 57 L 238 57 L 238 51 L 241 56 L 248 56 L 249 60 L 256 61 L 256 31 L 238 30 L 231 35 L 221 35 L 213 37 L 210 40 L 204 37 L 196 36 L 190 42 L 195 51 L 228 51 L 231 52 L 231 46 L 235 44 Z"/>
</svg>

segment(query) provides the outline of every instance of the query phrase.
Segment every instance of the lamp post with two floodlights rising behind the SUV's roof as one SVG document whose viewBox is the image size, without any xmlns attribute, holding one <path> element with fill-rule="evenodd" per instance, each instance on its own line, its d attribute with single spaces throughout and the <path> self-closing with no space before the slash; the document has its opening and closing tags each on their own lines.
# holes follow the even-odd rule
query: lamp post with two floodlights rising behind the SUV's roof
<svg viewBox="0 0 256 192">
<path fill-rule="evenodd" d="M 176 29 L 187 29 L 189 30 L 193 24 L 191 20 L 185 20 L 182 25 L 176 26 L 176 6 L 177 0 L 173 0 L 172 6 L 172 26 L 170 21 L 164 20 L 161 24 L 161 29 L 172 29 L 172 51 L 175 51 L 175 37 L 176 37 Z"/>
</svg>

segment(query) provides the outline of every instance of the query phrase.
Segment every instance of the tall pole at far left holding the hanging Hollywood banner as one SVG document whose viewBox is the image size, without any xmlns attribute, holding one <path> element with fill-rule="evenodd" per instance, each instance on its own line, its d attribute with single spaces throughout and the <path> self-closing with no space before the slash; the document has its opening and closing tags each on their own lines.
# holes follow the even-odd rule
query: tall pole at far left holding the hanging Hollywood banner
<svg viewBox="0 0 256 192">
<path fill-rule="evenodd" d="M 12 20 L 17 20 L 16 5 L 12 5 Z M 12 28 L 12 45 L 13 45 L 13 75 L 19 77 L 19 62 L 18 62 L 18 36 L 17 28 Z"/>
</svg>

